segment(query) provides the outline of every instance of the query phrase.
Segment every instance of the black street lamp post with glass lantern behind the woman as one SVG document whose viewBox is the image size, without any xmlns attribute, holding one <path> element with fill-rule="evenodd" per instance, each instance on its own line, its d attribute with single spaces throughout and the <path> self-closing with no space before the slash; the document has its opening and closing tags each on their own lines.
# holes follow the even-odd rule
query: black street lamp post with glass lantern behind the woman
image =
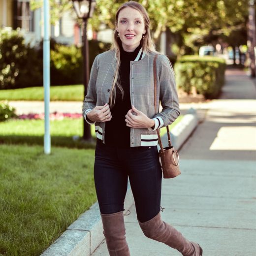
<svg viewBox="0 0 256 256">
<path fill-rule="evenodd" d="M 87 39 L 87 20 L 91 18 L 96 6 L 96 0 L 72 0 L 73 6 L 78 18 L 83 19 L 83 82 L 84 97 L 87 94 L 87 85 L 89 82 L 89 46 Z M 91 127 L 84 119 L 83 140 L 92 140 Z"/>
</svg>

